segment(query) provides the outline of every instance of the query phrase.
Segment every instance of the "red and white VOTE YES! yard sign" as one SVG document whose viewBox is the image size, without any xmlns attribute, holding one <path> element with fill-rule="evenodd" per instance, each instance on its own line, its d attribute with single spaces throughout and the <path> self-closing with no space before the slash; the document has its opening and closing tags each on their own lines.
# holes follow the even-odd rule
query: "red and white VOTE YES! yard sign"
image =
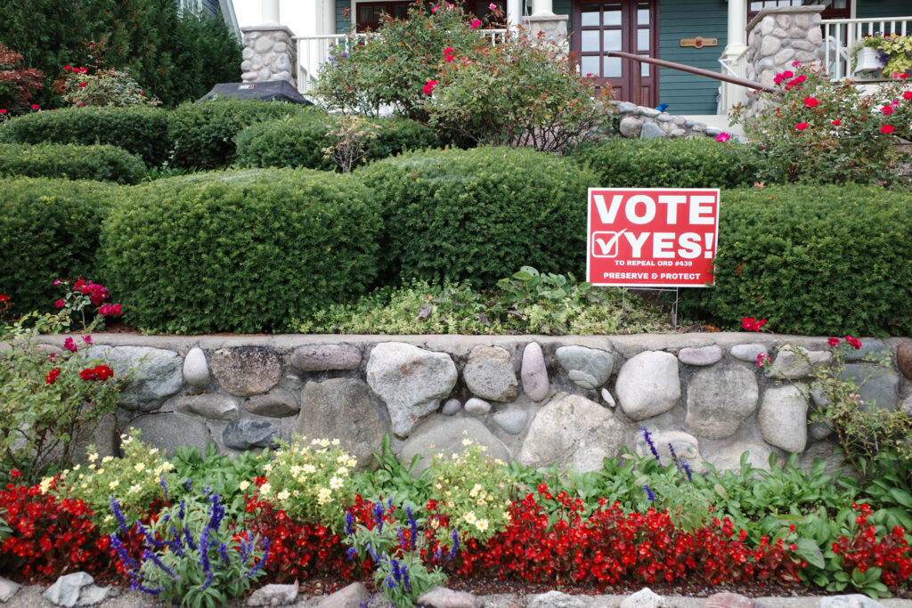
<svg viewBox="0 0 912 608">
<path fill-rule="evenodd" d="M 718 189 L 590 188 L 586 281 L 706 287 L 719 241 Z"/>
</svg>

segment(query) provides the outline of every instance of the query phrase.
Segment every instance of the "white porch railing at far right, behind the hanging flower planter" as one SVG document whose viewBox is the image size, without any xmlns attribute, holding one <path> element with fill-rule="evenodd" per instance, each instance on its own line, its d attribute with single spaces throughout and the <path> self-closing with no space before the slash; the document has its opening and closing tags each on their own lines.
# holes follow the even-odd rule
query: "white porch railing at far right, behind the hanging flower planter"
<svg viewBox="0 0 912 608">
<path fill-rule="evenodd" d="M 852 78 L 859 82 L 876 78 L 855 74 L 852 58 L 855 44 L 865 36 L 875 34 L 912 34 L 912 16 L 879 19 L 826 19 L 820 23 L 824 35 L 824 69 L 834 80 Z M 886 75 L 889 77 L 889 75 Z"/>
</svg>

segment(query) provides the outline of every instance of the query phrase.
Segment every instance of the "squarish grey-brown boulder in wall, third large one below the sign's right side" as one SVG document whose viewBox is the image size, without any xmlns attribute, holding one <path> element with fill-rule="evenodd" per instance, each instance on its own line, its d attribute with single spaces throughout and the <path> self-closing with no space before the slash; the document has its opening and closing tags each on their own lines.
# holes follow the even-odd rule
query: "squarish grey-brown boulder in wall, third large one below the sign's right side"
<svg viewBox="0 0 912 608">
<path fill-rule="evenodd" d="M 713 366 L 690 378 L 687 425 L 705 438 L 735 434 L 757 408 L 757 377 L 742 366 Z"/>
</svg>

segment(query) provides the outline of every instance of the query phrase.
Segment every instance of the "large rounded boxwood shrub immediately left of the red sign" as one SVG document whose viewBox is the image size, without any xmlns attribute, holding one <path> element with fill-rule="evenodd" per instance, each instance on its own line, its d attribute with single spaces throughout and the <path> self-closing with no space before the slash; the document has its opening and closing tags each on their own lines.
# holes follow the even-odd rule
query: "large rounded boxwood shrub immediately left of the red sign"
<svg viewBox="0 0 912 608">
<path fill-rule="evenodd" d="M 586 188 L 575 162 L 532 149 L 410 152 L 356 171 L 377 192 L 389 277 L 492 285 L 523 265 L 585 269 Z"/>
</svg>

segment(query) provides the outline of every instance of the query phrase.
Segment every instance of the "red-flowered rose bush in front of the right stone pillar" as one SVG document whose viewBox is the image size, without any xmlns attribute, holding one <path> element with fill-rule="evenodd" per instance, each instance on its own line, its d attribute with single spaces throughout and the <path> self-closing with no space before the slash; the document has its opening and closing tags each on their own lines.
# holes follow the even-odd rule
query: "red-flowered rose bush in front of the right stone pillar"
<svg viewBox="0 0 912 608">
<path fill-rule="evenodd" d="M 762 160 L 760 180 L 896 183 L 908 155 L 896 149 L 912 124 L 912 82 L 896 74 L 876 93 L 834 82 L 819 66 L 793 65 L 760 93 L 753 108 L 733 110 Z"/>
</svg>

